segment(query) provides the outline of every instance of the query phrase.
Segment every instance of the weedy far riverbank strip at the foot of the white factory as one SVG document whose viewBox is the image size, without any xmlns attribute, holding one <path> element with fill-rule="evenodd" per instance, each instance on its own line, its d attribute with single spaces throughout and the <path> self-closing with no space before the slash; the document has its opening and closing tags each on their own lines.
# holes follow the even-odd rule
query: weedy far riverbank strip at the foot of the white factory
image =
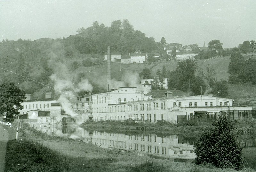
<svg viewBox="0 0 256 172">
<path fill-rule="evenodd" d="M 129 132 L 154 132 L 161 134 L 182 133 L 187 135 L 197 135 L 204 130 L 210 130 L 212 122 L 204 122 L 199 125 L 196 121 L 188 121 L 183 124 L 173 124 L 166 121 L 157 121 L 156 123 L 135 122 L 133 120 L 126 121 L 98 121 L 87 122 L 80 126 L 82 128 L 97 130 L 97 131 L 119 131 L 124 133 Z M 256 124 L 254 118 L 239 119 L 234 121 L 237 128 L 237 133 L 243 137 L 251 137 L 256 135 Z"/>
</svg>

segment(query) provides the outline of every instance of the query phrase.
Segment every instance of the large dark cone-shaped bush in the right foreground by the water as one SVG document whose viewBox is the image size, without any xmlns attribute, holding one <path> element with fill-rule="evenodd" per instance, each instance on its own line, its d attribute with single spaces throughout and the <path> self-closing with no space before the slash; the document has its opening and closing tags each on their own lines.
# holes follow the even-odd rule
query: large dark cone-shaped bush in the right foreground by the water
<svg viewBox="0 0 256 172">
<path fill-rule="evenodd" d="M 213 122 L 214 128 L 206 130 L 194 145 L 196 164 L 212 164 L 218 168 L 243 167 L 242 148 L 236 142 L 235 126 L 228 118 L 220 116 Z"/>
</svg>

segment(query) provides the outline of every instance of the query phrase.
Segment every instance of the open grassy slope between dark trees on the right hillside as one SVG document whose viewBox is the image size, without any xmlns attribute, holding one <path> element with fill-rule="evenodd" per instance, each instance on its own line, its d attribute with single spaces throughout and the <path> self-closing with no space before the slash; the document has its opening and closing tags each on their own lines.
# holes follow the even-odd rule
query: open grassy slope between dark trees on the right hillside
<svg viewBox="0 0 256 172">
<path fill-rule="evenodd" d="M 224 79 L 225 81 L 228 81 L 229 62 L 230 62 L 229 56 L 217 57 L 215 59 L 208 59 L 208 60 L 198 60 L 197 61 L 198 67 L 196 69 L 196 75 L 198 74 L 200 68 L 202 68 L 204 70 L 204 73 L 206 73 L 206 67 L 209 64 L 210 68 L 213 68 L 216 72 L 216 74 L 215 74 L 216 79 L 218 79 L 218 80 Z"/>
</svg>

